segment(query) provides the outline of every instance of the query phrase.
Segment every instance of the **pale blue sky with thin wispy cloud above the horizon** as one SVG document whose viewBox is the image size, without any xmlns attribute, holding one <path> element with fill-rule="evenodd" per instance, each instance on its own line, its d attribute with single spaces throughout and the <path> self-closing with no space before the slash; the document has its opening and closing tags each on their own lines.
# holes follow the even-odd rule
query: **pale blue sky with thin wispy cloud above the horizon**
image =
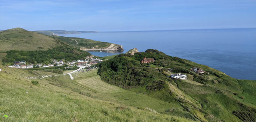
<svg viewBox="0 0 256 122">
<path fill-rule="evenodd" d="M 0 30 L 256 28 L 256 0 L 0 0 Z"/>
</svg>

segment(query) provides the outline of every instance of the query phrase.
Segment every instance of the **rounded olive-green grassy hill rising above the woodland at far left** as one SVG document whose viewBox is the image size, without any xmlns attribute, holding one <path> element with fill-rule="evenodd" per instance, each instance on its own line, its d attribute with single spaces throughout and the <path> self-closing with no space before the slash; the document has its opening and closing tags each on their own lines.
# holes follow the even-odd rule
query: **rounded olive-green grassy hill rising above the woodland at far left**
<svg viewBox="0 0 256 122">
<path fill-rule="evenodd" d="M 13 28 L 0 32 L 0 52 L 8 50 L 48 50 L 48 48 L 56 46 L 59 46 L 59 42 L 53 37 L 30 32 L 22 28 Z"/>
</svg>

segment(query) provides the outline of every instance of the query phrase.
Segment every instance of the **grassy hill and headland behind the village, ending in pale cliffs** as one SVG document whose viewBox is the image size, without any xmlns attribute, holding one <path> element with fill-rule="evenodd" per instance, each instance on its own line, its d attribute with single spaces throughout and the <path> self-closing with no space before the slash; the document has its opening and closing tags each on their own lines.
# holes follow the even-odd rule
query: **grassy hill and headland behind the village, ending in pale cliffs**
<svg viewBox="0 0 256 122">
<path fill-rule="evenodd" d="M 56 30 L 61 31 L 61 30 Z M 46 32 L 51 33 L 51 32 Z M 0 52 L 8 50 L 48 50 L 56 46 L 61 46 L 66 42 L 70 46 L 75 46 L 81 50 L 120 50 L 123 46 L 108 42 L 94 41 L 85 38 L 47 36 L 46 34 L 27 31 L 22 28 L 13 28 L 0 32 Z"/>
</svg>

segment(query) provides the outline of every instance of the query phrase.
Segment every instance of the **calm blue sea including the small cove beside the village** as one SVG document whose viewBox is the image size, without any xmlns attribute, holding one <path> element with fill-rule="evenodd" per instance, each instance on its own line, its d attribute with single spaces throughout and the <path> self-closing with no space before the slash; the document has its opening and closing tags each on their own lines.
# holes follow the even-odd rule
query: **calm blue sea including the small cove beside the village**
<svg viewBox="0 0 256 122">
<path fill-rule="evenodd" d="M 256 80 L 255 29 L 202 29 L 141 32 L 101 32 L 61 35 L 123 45 L 124 52 L 157 49 L 218 69 L 231 77 Z M 97 56 L 120 54 L 90 51 Z"/>
</svg>

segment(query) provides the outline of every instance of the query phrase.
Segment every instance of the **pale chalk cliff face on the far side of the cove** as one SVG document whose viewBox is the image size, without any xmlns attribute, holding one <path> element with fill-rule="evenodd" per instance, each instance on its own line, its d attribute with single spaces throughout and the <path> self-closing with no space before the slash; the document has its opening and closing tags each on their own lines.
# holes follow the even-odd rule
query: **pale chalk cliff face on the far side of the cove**
<svg viewBox="0 0 256 122">
<path fill-rule="evenodd" d="M 117 45 L 117 44 L 110 44 L 108 47 L 106 48 L 99 48 L 97 45 L 92 47 L 91 49 L 85 48 L 85 47 L 81 47 L 81 50 L 119 50 L 119 51 L 124 51 L 123 46 L 122 45 Z"/>
</svg>

